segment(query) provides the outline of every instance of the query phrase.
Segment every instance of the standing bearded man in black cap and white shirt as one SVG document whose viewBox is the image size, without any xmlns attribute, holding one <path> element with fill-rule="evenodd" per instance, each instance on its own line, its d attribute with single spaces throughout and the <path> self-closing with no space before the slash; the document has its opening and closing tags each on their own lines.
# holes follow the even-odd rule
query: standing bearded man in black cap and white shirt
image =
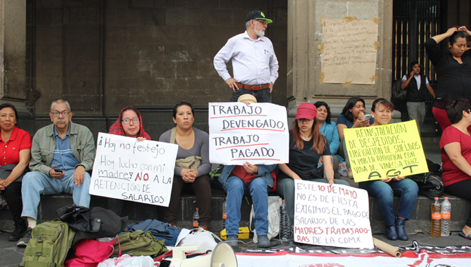
<svg viewBox="0 0 471 267">
<path fill-rule="evenodd" d="M 278 78 L 278 59 L 270 39 L 265 37 L 267 23 L 265 14 L 254 10 L 245 17 L 245 32 L 228 40 L 217 52 L 214 65 L 217 73 L 232 89 L 231 102 L 239 96 L 252 94 L 259 103 L 272 102 L 273 84 Z M 232 78 L 226 63 L 232 59 Z"/>
</svg>

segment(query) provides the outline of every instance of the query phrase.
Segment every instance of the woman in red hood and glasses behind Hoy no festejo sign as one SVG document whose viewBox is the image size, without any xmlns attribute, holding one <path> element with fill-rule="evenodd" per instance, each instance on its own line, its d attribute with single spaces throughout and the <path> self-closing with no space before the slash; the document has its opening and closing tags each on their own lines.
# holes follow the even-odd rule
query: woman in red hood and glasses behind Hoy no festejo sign
<svg viewBox="0 0 471 267">
<path fill-rule="evenodd" d="M 142 118 L 138 109 L 135 107 L 124 107 L 120 112 L 120 118 L 109 127 L 108 133 L 116 134 L 117 136 L 127 136 L 137 138 L 138 141 L 151 140 L 151 136 L 144 131 L 142 126 Z M 117 215 L 122 215 L 122 208 L 126 200 L 116 200 L 114 198 L 108 199 L 108 209 L 114 211 Z M 154 205 L 145 205 L 144 219 L 157 219 L 157 208 Z"/>
</svg>

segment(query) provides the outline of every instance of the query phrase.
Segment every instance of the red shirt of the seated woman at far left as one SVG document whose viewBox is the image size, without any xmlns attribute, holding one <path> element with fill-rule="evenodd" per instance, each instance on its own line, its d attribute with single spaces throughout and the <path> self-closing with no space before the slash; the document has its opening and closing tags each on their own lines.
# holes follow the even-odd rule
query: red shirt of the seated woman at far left
<svg viewBox="0 0 471 267">
<path fill-rule="evenodd" d="M 8 142 L 3 142 L 0 136 L 0 166 L 20 162 L 23 149 L 31 149 L 30 133 L 15 126 Z"/>
</svg>

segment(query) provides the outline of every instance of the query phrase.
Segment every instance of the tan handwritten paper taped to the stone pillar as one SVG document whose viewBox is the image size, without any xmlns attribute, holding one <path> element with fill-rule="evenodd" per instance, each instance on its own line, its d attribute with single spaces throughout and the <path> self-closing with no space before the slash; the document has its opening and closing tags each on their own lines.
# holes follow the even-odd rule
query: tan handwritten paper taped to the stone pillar
<svg viewBox="0 0 471 267">
<path fill-rule="evenodd" d="M 377 20 L 325 19 L 320 81 L 374 85 L 377 36 Z"/>
</svg>

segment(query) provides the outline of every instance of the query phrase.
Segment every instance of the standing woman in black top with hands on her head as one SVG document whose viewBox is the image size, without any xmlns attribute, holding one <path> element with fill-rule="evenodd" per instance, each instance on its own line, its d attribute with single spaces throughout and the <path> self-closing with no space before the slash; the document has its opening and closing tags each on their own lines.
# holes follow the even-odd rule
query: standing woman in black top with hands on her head
<svg viewBox="0 0 471 267">
<path fill-rule="evenodd" d="M 471 31 L 465 26 L 453 27 L 425 43 L 427 56 L 437 72 L 437 98 L 432 111 L 442 130 L 451 125 L 446 105 L 460 98 L 471 100 L 471 52 L 466 51 L 466 36 L 471 36 Z M 448 37 L 449 50 L 440 50 L 438 43 Z"/>
</svg>

